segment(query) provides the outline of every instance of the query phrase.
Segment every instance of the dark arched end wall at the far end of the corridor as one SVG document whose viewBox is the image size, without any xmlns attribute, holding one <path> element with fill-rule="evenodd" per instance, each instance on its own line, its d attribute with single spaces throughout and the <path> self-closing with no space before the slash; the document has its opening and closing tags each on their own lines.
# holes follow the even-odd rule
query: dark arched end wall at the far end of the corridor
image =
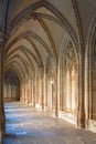
<svg viewBox="0 0 96 144">
<path fill-rule="evenodd" d="M 8 71 L 4 74 L 3 101 L 20 101 L 20 80 L 15 72 Z"/>
</svg>

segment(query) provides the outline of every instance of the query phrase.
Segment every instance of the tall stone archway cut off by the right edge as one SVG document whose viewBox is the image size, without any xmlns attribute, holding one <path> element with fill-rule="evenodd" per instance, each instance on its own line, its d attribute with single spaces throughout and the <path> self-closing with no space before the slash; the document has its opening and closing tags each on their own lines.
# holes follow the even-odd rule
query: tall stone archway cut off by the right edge
<svg viewBox="0 0 96 144">
<path fill-rule="evenodd" d="M 96 19 L 89 24 L 85 53 L 86 127 L 96 132 Z"/>
</svg>

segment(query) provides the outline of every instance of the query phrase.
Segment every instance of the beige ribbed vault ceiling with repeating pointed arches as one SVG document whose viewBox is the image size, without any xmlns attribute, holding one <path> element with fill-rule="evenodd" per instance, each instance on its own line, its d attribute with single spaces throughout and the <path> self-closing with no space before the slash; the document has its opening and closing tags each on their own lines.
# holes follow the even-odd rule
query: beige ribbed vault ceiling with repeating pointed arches
<svg viewBox="0 0 96 144">
<path fill-rule="evenodd" d="M 46 65 L 47 58 L 55 64 L 63 41 L 65 45 L 67 41 L 78 44 L 73 0 L 9 0 L 7 10 L 9 40 L 4 49 L 4 73 L 17 73 L 20 81 Z"/>
</svg>

